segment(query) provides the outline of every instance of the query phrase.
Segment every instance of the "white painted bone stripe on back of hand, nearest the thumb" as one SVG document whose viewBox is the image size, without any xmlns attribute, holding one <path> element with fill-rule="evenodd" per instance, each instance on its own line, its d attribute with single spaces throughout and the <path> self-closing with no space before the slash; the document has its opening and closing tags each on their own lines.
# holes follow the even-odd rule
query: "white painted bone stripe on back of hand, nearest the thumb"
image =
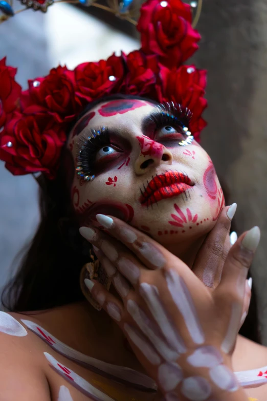
<svg viewBox="0 0 267 401">
<path fill-rule="evenodd" d="M 184 318 L 192 340 L 196 344 L 203 344 L 205 341 L 204 332 L 186 283 L 175 270 L 167 270 L 165 276 L 172 299 Z"/>
</svg>

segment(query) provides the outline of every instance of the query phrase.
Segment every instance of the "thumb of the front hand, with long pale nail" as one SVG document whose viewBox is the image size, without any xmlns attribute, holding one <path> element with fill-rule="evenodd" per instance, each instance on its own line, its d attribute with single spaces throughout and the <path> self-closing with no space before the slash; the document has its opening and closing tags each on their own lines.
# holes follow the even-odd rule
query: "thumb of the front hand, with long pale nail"
<svg viewBox="0 0 267 401">
<path fill-rule="evenodd" d="M 221 350 L 226 353 L 233 350 L 236 341 L 246 279 L 259 240 L 260 229 L 257 226 L 243 233 L 238 238 L 229 251 L 224 269 L 222 270 L 221 281 L 213 292 L 218 312 L 221 310 L 222 305 L 229 306 L 229 313 L 225 314 L 228 320 L 228 328 L 225 339 L 221 344 Z"/>
</svg>

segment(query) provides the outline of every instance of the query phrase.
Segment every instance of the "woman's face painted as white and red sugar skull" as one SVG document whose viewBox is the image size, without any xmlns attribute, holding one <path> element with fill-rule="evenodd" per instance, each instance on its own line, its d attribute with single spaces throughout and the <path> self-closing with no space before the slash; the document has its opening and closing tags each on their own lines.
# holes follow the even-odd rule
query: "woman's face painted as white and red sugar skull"
<svg viewBox="0 0 267 401">
<path fill-rule="evenodd" d="M 75 167 L 81 161 L 95 175 L 85 181 L 75 174 L 72 202 L 80 225 L 98 213 L 113 215 L 162 244 L 212 229 L 224 205 L 222 189 L 204 149 L 194 140 L 181 146 L 183 116 L 174 114 L 143 100 L 110 100 L 77 122 L 68 147 Z"/>
</svg>

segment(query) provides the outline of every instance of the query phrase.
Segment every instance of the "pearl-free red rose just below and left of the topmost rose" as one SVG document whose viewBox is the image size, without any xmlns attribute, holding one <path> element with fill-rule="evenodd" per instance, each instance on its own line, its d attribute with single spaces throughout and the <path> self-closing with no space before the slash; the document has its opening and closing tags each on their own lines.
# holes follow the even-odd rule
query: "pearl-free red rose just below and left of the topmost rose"
<svg viewBox="0 0 267 401">
<path fill-rule="evenodd" d="M 126 63 L 129 72 L 125 78 L 124 92 L 155 98 L 159 72 L 158 57 L 145 55 L 142 51 L 136 50 L 128 54 Z"/>
</svg>

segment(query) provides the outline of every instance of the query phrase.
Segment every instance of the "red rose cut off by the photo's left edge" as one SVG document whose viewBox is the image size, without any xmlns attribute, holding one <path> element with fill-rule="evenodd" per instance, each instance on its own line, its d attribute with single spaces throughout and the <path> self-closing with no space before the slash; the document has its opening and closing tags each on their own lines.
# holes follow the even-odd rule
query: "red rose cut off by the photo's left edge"
<svg viewBox="0 0 267 401">
<path fill-rule="evenodd" d="M 6 66 L 6 58 L 0 60 L 0 128 L 19 106 L 21 87 L 15 82 L 16 68 Z"/>
</svg>

